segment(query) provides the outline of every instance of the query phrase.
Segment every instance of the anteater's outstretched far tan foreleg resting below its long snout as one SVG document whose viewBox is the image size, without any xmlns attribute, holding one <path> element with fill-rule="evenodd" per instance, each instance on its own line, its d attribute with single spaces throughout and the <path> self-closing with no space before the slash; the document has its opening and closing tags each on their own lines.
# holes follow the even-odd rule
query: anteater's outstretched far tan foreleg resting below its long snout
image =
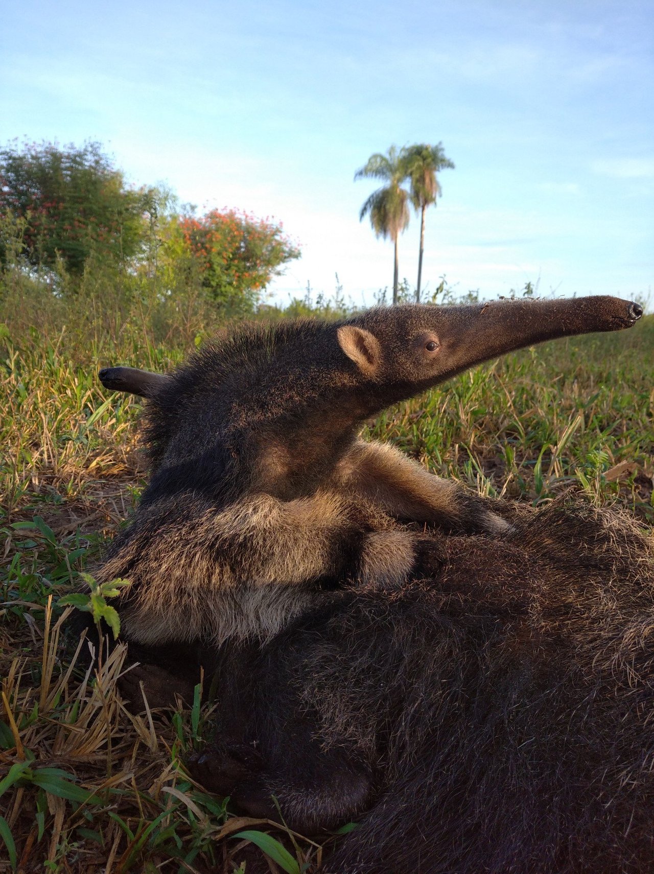
<svg viewBox="0 0 654 874">
<path fill-rule="evenodd" d="M 378 504 L 398 519 L 462 534 L 503 533 L 510 525 L 456 482 L 428 473 L 388 443 L 357 440 L 337 468 L 345 493 Z"/>
</svg>

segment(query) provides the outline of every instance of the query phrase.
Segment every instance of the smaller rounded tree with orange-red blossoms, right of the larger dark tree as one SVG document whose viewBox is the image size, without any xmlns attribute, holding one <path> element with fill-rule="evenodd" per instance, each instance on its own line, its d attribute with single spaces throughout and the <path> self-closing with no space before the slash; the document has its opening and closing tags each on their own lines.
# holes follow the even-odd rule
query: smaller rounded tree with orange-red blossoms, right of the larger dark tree
<svg viewBox="0 0 654 874">
<path fill-rule="evenodd" d="M 237 210 L 212 210 L 179 220 L 179 230 L 212 299 L 230 309 L 252 309 L 282 266 L 300 250 L 282 231 L 282 223 Z"/>
</svg>

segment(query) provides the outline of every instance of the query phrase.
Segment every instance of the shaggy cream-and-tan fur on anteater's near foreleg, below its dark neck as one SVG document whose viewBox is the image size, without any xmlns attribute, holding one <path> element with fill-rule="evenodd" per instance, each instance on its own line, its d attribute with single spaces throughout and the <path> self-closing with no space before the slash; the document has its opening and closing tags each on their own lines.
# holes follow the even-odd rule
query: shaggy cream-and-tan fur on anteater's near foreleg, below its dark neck
<svg viewBox="0 0 654 874">
<path fill-rule="evenodd" d="M 288 502 L 251 496 L 200 519 L 162 523 L 157 538 L 132 538 L 98 579 L 137 584 L 123 613 L 139 642 L 272 635 L 318 600 L 302 584 L 330 570 L 351 511 L 334 492 Z M 386 572 L 389 561 L 377 564 Z"/>
</svg>

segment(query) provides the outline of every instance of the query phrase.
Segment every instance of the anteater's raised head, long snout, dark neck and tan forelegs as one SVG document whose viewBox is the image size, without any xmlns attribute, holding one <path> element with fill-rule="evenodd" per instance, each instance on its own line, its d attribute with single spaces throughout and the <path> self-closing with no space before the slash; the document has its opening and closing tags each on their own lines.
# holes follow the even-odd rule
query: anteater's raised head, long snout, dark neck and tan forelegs
<svg viewBox="0 0 654 874">
<path fill-rule="evenodd" d="M 361 425 L 487 358 L 641 314 L 612 297 L 376 309 L 244 327 L 144 375 L 150 484 L 97 574 L 132 582 L 125 636 L 266 639 L 348 579 L 400 586 L 429 542 L 398 518 L 507 531 L 480 498 L 358 440 Z"/>
</svg>

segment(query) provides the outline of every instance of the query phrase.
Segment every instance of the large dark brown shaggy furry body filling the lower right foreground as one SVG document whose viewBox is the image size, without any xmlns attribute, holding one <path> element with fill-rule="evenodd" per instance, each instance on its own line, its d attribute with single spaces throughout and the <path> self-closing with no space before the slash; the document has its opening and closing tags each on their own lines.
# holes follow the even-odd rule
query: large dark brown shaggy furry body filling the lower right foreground
<svg viewBox="0 0 654 874">
<path fill-rule="evenodd" d="M 559 501 L 434 579 L 332 593 L 225 649 L 205 787 L 303 833 L 333 874 L 654 871 L 654 551 Z"/>
</svg>

